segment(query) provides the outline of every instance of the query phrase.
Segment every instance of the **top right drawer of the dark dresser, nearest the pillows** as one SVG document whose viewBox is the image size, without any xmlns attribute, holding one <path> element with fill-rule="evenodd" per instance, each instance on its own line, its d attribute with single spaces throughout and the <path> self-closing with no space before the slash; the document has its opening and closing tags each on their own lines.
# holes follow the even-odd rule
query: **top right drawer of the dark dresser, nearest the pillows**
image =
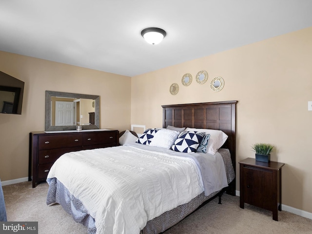
<svg viewBox="0 0 312 234">
<path fill-rule="evenodd" d="M 116 143 L 116 131 L 100 132 L 100 133 L 84 133 L 83 134 L 83 146 L 86 145 L 98 145 L 108 144 L 112 146 Z"/>
</svg>

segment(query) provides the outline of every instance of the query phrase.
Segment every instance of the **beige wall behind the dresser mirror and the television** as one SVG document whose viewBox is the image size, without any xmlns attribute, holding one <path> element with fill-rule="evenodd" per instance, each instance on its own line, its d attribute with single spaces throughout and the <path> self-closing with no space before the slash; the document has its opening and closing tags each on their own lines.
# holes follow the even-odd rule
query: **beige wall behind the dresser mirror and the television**
<svg viewBox="0 0 312 234">
<path fill-rule="evenodd" d="M 130 128 L 130 77 L 6 52 L 0 71 L 25 82 L 22 114 L 0 114 L 2 181 L 28 176 L 29 132 L 44 131 L 46 90 L 99 95 L 100 128 Z"/>
</svg>

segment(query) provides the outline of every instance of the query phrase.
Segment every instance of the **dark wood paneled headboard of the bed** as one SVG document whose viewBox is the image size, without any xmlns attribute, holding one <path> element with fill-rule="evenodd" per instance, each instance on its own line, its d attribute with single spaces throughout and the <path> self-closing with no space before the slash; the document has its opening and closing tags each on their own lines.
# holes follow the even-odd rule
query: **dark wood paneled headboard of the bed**
<svg viewBox="0 0 312 234">
<path fill-rule="evenodd" d="M 234 171 L 236 172 L 236 103 L 237 101 L 217 101 L 193 104 L 163 105 L 162 127 L 206 128 L 223 131 L 228 135 L 221 148 L 230 150 Z M 227 190 L 235 195 L 234 179 Z"/>
</svg>

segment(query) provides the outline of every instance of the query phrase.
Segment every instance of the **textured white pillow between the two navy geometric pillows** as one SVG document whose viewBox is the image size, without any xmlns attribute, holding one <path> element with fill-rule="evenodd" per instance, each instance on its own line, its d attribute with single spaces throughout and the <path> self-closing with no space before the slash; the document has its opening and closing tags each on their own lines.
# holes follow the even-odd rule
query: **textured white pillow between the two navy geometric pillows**
<svg viewBox="0 0 312 234">
<path fill-rule="evenodd" d="M 179 134 L 178 131 L 162 128 L 156 132 L 150 145 L 170 149 Z"/>
</svg>

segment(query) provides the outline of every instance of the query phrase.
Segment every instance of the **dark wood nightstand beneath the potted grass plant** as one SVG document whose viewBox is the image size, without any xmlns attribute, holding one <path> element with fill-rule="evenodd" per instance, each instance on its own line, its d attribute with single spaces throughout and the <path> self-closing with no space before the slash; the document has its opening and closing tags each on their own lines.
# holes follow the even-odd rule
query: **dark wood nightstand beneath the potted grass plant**
<svg viewBox="0 0 312 234">
<path fill-rule="evenodd" d="M 273 212 L 273 220 L 278 221 L 278 211 L 282 210 L 282 167 L 280 162 L 259 162 L 246 158 L 239 162 L 240 208 L 248 203 Z"/>
</svg>

